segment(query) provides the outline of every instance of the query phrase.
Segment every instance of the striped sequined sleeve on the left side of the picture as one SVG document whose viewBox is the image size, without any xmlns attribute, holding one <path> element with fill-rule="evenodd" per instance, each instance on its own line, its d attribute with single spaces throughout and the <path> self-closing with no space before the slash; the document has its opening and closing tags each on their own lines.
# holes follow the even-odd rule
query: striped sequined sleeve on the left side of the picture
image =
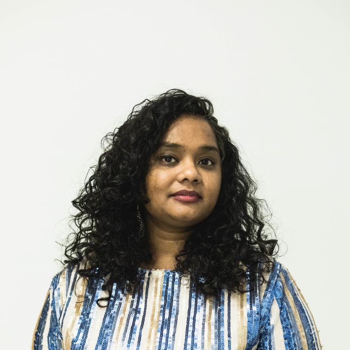
<svg viewBox="0 0 350 350">
<path fill-rule="evenodd" d="M 66 270 L 57 273 L 46 293 L 33 334 L 32 350 L 59 350 L 62 347 L 60 318 L 66 297 Z"/>
</svg>

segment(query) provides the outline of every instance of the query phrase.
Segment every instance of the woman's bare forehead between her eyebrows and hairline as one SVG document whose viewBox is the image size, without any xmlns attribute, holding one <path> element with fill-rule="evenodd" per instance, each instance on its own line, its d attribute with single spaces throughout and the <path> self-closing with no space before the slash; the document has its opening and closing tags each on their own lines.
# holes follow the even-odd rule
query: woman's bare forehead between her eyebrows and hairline
<svg viewBox="0 0 350 350">
<path fill-rule="evenodd" d="M 217 145 L 210 124 L 203 118 L 192 115 L 183 115 L 175 120 L 164 135 L 163 143 L 165 142 L 181 143 L 189 147 L 204 143 Z"/>
</svg>

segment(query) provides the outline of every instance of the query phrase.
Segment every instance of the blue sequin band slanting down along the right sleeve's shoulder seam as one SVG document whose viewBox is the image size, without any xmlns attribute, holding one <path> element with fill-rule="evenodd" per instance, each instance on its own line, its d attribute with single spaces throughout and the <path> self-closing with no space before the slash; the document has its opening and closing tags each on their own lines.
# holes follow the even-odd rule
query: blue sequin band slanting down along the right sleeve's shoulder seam
<svg viewBox="0 0 350 350">
<path fill-rule="evenodd" d="M 280 273 L 280 262 L 274 259 L 274 264 L 270 277 L 266 284 L 266 289 L 262 297 L 261 310 L 260 310 L 260 324 L 259 324 L 259 334 L 263 331 L 266 323 L 270 318 L 271 305 L 274 299 L 274 287 L 277 281 L 277 278 Z"/>
</svg>

